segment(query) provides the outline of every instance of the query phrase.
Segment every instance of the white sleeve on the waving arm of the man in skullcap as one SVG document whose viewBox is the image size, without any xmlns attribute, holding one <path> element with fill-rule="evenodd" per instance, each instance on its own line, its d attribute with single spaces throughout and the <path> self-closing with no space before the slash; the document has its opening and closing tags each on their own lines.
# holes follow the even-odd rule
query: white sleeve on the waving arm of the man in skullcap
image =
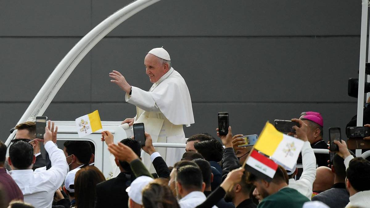
<svg viewBox="0 0 370 208">
<path fill-rule="evenodd" d="M 131 95 L 128 93 L 125 95 L 127 103 L 131 103 L 145 111 L 161 112 L 158 105 L 155 103 L 151 92 L 144 91 L 134 86 L 132 86 L 131 90 Z"/>
</svg>

